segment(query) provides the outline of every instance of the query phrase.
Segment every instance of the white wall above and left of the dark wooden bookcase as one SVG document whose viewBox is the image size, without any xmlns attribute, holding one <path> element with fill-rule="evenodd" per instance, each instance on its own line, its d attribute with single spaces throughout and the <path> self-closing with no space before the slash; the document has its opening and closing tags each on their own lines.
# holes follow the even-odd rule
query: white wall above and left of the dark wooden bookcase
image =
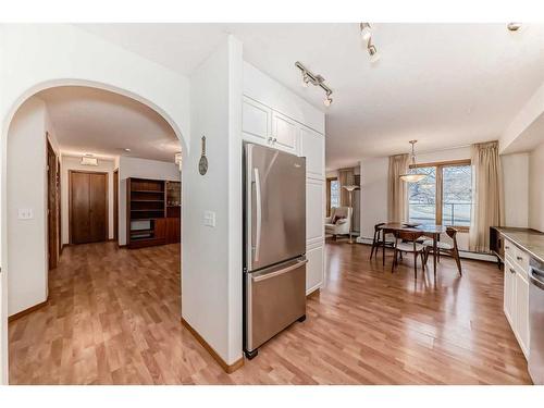
<svg viewBox="0 0 544 408">
<path fill-rule="evenodd" d="M 174 158 L 172 158 L 172 163 L 124 156 L 119 158 L 119 245 L 126 245 L 126 178 L 178 182 L 181 180 L 180 168 L 173 161 Z"/>
</svg>

